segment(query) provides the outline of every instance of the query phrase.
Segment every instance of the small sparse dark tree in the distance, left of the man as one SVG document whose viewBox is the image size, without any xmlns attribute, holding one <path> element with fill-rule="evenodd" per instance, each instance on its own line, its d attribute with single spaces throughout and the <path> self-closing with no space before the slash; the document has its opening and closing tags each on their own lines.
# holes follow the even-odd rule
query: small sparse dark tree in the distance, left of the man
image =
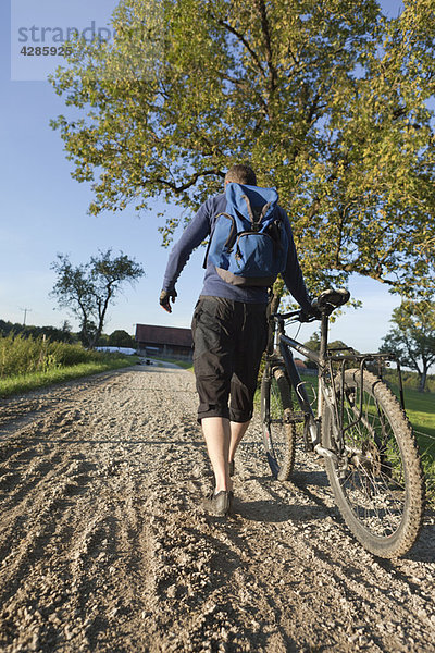
<svg viewBox="0 0 435 653">
<path fill-rule="evenodd" d="M 78 319 L 80 340 L 89 348 L 98 343 L 117 292 L 126 282 L 133 284 L 144 275 L 139 263 L 123 252 L 114 257 L 111 249 L 76 267 L 66 255 L 59 254 L 51 268 L 57 274 L 51 295 Z"/>
</svg>

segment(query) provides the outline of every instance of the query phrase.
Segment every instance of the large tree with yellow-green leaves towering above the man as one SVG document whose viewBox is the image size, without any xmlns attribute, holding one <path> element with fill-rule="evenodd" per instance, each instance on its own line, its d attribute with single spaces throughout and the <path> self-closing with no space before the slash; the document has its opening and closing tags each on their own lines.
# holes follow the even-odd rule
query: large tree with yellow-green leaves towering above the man
<svg viewBox="0 0 435 653">
<path fill-rule="evenodd" d="M 312 289 L 359 273 L 430 293 L 435 12 L 403 4 L 387 20 L 376 0 L 122 0 L 114 41 L 77 41 L 52 79 L 79 112 L 52 124 L 90 212 L 194 209 L 249 160 Z"/>
</svg>

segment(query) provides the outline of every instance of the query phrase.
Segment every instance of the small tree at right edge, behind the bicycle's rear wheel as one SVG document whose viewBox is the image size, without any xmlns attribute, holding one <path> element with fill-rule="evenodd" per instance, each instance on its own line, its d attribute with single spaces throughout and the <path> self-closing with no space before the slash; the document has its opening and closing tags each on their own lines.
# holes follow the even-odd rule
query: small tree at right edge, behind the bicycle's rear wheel
<svg viewBox="0 0 435 653">
<path fill-rule="evenodd" d="M 419 391 L 424 392 L 430 367 L 435 364 L 435 304 L 402 301 L 390 320 L 393 329 L 383 340 L 381 352 L 393 352 L 401 365 L 419 374 Z"/>
</svg>

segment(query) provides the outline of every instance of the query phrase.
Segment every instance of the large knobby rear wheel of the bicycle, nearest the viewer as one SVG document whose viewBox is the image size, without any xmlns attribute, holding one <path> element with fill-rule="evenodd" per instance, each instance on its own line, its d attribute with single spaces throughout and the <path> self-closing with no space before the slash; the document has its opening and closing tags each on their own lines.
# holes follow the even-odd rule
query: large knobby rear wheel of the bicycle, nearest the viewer
<svg viewBox="0 0 435 653">
<path fill-rule="evenodd" d="M 374 374 L 347 370 L 336 378 L 343 429 L 326 409 L 323 441 L 337 506 L 355 537 L 371 553 L 398 557 L 422 527 L 424 480 L 418 446 L 400 404 Z M 339 409 L 339 408 L 338 408 Z"/>
</svg>

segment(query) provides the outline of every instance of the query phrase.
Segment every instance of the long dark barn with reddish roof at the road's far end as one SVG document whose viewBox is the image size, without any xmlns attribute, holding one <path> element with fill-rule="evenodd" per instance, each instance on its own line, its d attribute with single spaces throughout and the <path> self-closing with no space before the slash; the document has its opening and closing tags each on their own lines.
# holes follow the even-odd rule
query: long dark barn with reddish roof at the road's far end
<svg viewBox="0 0 435 653">
<path fill-rule="evenodd" d="M 191 360 L 192 340 L 190 329 L 136 324 L 136 342 L 142 356 L 162 356 Z"/>
</svg>

